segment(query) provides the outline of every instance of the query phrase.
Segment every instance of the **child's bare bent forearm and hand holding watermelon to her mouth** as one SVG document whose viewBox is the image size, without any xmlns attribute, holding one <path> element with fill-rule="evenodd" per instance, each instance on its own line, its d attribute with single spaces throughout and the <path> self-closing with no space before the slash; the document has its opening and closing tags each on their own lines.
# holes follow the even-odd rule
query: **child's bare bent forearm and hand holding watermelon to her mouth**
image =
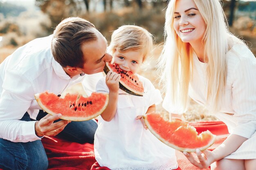
<svg viewBox="0 0 256 170">
<path fill-rule="evenodd" d="M 106 75 L 106 84 L 109 89 L 109 101 L 108 106 L 103 111 L 103 113 L 101 113 L 101 117 L 105 121 L 111 121 L 117 111 L 117 99 L 120 78 L 121 76 L 119 74 L 111 71 L 109 71 Z"/>
</svg>

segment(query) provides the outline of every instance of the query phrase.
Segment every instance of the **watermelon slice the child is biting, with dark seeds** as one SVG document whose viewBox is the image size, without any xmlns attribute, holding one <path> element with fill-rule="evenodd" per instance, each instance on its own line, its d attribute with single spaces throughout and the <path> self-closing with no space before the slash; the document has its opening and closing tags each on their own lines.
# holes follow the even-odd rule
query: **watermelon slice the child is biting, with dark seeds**
<svg viewBox="0 0 256 170">
<path fill-rule="evenodd" d="M 139 77 L 137 75 L 132 74 L 131 71 L 122 70 L 117 64 L 106 62 L 104 72 L 107 74 L 109 71 L 116 72 L 121 75 L 121 79 L 119 80 L 119 87 L 123 91 L 131 95 L 143 96 L 144 87 L 142 82 L 139 81 Z"/>
</svg>

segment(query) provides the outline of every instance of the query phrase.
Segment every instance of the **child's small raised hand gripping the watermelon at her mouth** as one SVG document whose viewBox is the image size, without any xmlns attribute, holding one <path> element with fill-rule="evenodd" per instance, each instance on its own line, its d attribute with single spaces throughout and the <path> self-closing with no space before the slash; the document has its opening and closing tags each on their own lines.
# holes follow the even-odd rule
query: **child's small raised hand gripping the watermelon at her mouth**
<svg viewBox="0 0 256 170">
<path fill-rule="evenodd" d="M 116 72 L 109 71 L 106 75 L 106 84 L 108 86 L 109 91 L 117 92 L 119 89 L 119 80 L 121 78 L 120 74 Z"/>
</svg>

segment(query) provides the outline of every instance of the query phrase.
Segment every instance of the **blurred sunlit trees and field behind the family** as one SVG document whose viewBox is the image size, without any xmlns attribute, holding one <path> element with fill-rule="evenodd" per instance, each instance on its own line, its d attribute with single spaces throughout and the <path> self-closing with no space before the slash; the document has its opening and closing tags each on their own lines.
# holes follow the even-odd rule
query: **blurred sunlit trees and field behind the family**
<svg viewBox="0 0 256 170">
<path fill-rule="evenodd" d="M 0 62 L 34 38 L 52 34 L 63 18 L 79 16 L 92 22 L 110 42 L 111 32 L 123 24 L 142 26 L 155 35 L 153 57 L 141 71 L 157 84 L 155 62 L 164 41 L 166 0 L 0 0 Z M 231 33 L 245 40 L 256 54 L 256 0 L 223 0 Z M 161 106 L 158 108 L 161 112 Z M 214 119 L 191 103 L 184 117 L 189 121 Z M 191 113 L 195 113 L 191 116 Z"/>
</svg>

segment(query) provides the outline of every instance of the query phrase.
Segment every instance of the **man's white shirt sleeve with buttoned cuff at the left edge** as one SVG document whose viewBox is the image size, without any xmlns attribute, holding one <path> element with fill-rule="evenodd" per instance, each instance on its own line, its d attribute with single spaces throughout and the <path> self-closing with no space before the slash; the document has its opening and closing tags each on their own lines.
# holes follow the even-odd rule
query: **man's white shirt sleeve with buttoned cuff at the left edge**
<svg viewBox="0 0 256 170">
<path fill-rule="evenodd" d="M 19 120 L 34 99 L 34 88 L 15 70 L 6 71 L 5 77 L 0 97 L 0 138 L 13 142 L 40 139 L 35 133 L 36 121 Z"/>
</svg>

